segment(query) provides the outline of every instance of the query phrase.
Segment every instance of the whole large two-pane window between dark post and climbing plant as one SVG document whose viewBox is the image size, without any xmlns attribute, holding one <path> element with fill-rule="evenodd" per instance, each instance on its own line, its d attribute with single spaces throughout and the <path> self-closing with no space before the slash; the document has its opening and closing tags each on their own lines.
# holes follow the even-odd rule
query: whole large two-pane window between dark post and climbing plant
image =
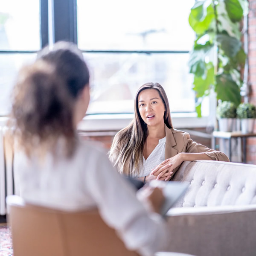
<svg viewBox="0 0 256 256">
<path fill-rule="evenodd" d="M 188 58 L 194 0 L 77 0 L 78 45 L 92 70 L 89 113 L 132 113 L 140 85 L 159 82 L 172 112 L 194 112 Z"/>
</svg>

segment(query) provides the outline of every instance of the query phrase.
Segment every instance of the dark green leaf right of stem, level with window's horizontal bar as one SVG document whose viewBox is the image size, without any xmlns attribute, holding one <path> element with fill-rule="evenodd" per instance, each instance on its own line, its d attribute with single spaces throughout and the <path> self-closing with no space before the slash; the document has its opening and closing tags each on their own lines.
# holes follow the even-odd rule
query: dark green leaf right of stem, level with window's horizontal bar
<svg viewBox="0 0 256 256">
<path fill-rule="evenodd" d="M 218 34 L 217 41 L 224 53 L 230 58 L 238 53 L 242 44 L 239 40 L 227 34 Z"/>
</svg>

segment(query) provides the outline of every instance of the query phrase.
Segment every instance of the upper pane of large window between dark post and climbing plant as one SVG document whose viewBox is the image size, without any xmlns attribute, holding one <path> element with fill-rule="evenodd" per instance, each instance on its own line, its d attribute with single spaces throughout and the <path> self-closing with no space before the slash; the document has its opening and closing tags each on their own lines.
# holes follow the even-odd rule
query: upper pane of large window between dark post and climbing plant
<svg viewBox="0 0 256 256">
<path fill-rule="evenodd" d="M 78 45 L 85 50 L 192 49 L 194 0 L 77 0 Z"/>
</svg>

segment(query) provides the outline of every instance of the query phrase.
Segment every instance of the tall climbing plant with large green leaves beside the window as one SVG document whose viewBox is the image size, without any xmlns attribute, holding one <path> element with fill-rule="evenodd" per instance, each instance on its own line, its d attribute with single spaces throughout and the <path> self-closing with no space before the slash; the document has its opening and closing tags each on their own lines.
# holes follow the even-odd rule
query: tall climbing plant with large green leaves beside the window
<svg viewBox="0 0 256 256">
<path fill-rule="evenodd" d="M 239 24 L 248 13 L 247 0 L 195 1 L 189 15 L 189 24 L 196 33 L 190 54 L 190 73 L 194 76 L 193 90 L 201 116 L 202 99 L 214 90 L 217 99 L 230 101 L 237 107 L 241 103 L 240 71 L 246 54 L 240 41 Z M 209 59 L 216 56 L 217 61 Z"/>
</svg>

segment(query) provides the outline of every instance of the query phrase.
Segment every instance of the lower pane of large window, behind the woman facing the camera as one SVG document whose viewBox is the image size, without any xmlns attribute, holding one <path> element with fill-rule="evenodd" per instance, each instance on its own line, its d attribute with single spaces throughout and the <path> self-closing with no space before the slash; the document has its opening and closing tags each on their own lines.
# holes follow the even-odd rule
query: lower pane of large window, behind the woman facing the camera
<svg viewBox="0 0 256 256">
<path fill-rule="evenodd" d="M 145 82 L 159 82 L 172 112 L 195 111 L 189 54 L 85 53 L 91 69 L 88 113 L 133 113 L 134 96 Z"/>
</svg>

